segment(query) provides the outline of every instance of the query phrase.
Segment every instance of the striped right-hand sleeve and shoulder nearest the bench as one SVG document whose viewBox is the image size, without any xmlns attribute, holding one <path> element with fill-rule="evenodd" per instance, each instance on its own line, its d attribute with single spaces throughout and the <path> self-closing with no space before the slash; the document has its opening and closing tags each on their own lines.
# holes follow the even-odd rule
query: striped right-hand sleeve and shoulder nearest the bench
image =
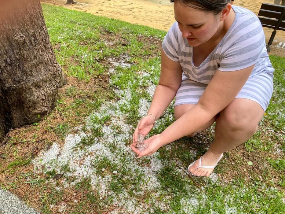
<svg viewBox="0 0 285 214">
<path fill-rule="evenodd" d="M 266 56 L 265 36 L 259 20 L 250 17 L 233 29 L 223 45 L 220 71 L 236 71 L 256 64 Z"/>
</svg>

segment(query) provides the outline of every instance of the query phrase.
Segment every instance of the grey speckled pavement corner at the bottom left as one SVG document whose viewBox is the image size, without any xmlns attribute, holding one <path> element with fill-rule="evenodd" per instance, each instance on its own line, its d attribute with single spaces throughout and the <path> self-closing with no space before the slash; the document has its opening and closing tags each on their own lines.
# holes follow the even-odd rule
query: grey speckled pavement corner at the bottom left
<svg viewBox="0 0 285 214">
<path fill-rule="evenodd" d="M 29 208 L 18 197 L 6 190 L 0 189 L 0 214 L 40 214 L 34 208 Z"/>
</svg>

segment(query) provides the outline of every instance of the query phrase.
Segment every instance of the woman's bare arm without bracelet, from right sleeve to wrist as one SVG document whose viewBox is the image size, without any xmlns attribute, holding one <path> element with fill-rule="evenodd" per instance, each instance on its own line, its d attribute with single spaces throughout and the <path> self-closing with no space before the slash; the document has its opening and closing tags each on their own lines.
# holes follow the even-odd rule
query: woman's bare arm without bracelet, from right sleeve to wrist
<svg viewBox="0 0 285 214">
<path fill-rule="evenodd" d="M 195 132 L 230 104 L 246 83 L 253 67 L 233 72 L 217 71 L 198 104 L 161 133 L 161 146 Z"/>
</svg>

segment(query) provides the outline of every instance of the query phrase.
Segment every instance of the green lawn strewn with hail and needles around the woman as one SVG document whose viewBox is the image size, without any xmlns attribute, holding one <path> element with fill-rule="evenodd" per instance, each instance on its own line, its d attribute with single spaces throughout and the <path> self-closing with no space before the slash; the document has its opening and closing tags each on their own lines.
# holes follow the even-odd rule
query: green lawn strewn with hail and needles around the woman
<svg viewBox="0 0 285 214">
<path fill-rule="evenodd" d="M 158 84 L 166 32 L 42 7 L 68 84 L 49 116 L 9 133 L 1 188 L 42 213 L 283 212 L 285 58 L 270 56 L 274 93 L 255 135 L 225 153 L 210 178 L 190 177 L 186 167 L 210 146 L 214 126 L 150 157 L 129 148 Z M 150 135 L 173 121 L 172 103 Z"/>
</svg>

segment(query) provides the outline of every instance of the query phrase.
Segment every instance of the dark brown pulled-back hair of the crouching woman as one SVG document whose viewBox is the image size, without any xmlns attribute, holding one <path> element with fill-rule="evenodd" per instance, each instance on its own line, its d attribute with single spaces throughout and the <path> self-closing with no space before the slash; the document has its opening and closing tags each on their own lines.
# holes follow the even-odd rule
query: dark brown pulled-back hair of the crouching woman
<svg viewBox="0 0 285 214">
<path fill-rule="evenodd" d="M 186 6 L 212 12 L 214 14 L 220 13 L 230 2 L 229 0 L 175 0 Z M 174 2 L 171 0 L 170 2 Z"/>
</svg>

